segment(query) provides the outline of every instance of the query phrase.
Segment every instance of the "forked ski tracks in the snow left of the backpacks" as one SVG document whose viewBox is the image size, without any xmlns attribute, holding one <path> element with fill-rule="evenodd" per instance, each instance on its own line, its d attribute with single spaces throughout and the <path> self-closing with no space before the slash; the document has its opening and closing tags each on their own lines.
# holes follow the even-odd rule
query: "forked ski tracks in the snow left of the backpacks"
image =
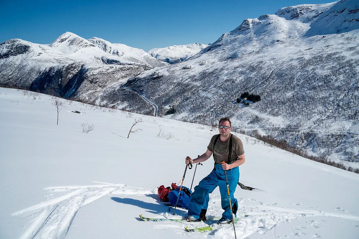
<svg viewBox="0 0 359 239">
<path fill-rule="evenodd" d="M 125 184 L 97 182 L 99 185 L 47 187 L 48 193 L 71 191 L 63 196 L 48 200 L 29 208 L 17 211 L 12 216 L 19 216 L 34 211 L 31 226 L 20 237 L 29 238 L 65 238 L 78 210 L 100 197 L 108 194 L 145 195 L 151 190 L 129 187 Z"/>
</svg>

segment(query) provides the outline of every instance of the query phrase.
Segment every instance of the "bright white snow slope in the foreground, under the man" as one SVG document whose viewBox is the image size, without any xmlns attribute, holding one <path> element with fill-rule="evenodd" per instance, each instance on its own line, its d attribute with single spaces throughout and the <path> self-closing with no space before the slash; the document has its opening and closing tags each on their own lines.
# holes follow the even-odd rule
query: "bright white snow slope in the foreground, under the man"
<svg viewBox="0 0 359 239">
<path fill-rule="evenodd" d="M 205 152 L 215 128 L 61 101 L 56 125 L 50 96 L 0 88 L 0 238 L 234 238 L 230 225 L 200 234 L 183 228 L 201 223 L 138 220 L 186 215 L 168 213 L 157 187 L 181 181 L 185 157 Z M 127 139 L 140 117 L 143 131 Z M 81 132 L 83 122 L 94 130 Z M 159 126 L 174 137 L 158 138 Z M 237 187 L 238 239 L 357 238 L 358 174 L 237 135 L 246 151 L 240 182 L 262 190 Z M 212 168 L 211 158 L 197 167 L 194 185 Z M 208 215 L 221 213 L 216 189 Z"/>
</svg>

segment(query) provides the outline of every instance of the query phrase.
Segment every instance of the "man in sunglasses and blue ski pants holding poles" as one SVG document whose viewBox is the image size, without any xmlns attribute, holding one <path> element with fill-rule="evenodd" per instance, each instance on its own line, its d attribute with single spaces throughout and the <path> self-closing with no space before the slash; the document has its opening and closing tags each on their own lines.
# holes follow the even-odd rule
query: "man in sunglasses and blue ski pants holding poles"
<svg viewBox="0 0 359 239">
<path fill-rule="evenodd" d="M 244 156 L 243 143 L 235 135 L 230 133 L 231 122 L 228 117 L 221 118 L 219 121 L 219 135 L 214 135 L 207 147 L 207 151 L 200 157 L 186 159 L 186 164 L 197 164 L 208 160 L 213 154 L 214 169 L 211 173 L 202 179 L 191 197 L 190 208 L 188 209 L 188 221 L 206 220 L 206 211 L 208 208 L 209 194 L 219 186 L 222 199 L 222 209 L 224 213 L 218 223 L 225 224 L 232 221 L 232 212 L 230 211 L 227 184 L 225 181 L 224 170 L 227 171 L 230 200 L 234 215 L 237 213 L 237 199 L 233 197 L 239 180 L 239 168 L 246 158 Z M 221 162 L 223 162 L 221 164 Z"/>
</svg>

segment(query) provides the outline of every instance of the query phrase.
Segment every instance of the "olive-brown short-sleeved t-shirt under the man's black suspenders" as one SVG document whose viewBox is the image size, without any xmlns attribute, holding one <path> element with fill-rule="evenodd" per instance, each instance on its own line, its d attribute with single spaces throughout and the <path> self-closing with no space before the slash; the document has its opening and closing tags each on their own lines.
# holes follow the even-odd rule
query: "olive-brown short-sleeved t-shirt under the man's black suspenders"
<svg viewBox="0 0 359 239">
<path fill-rule="evenodd" d="M 209 145 L 207 148 L 209 151 L 212 151 L 214 153 L 215 162 L 217 164 L 220 164 L 222 161 L 224 161 L 228 164 L 230 136 L 224 142 L 220 141 L 220 137 L 219 137 L 216 142 L 216 145 L 214 146 L 215 149 L 213 150 L 213 144 L 218 135 L 219 134 L 214 135 L 211 138 L 211 141 L 209 142 Z M 230 135 L 232 135 L 232 134 L 230 134 Z M 244 149 L 243 149 L 242 141 L 237 136 L 233 135 L 232 136 L 232 153 L 230 156 L 230 161 L 233 163 L 234 161 L 238 160 L 238 156 L 241 156 L 243 153 L 244 153 Z"/>
</svg>

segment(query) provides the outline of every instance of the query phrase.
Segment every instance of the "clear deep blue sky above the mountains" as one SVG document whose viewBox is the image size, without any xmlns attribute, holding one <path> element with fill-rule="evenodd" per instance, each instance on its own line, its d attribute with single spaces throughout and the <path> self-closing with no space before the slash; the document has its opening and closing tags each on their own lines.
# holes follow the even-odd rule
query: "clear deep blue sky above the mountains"
<svg viewBox="0 0 359 239">
<path fill-rule="evenodd" d="M 20 38 L 50 44 L 66 31 L 85 39 L 144 49 L 212 43 L 244 19 L 320 0 L 256 1 L 5 1 L 0 0 L 0 42 Z"/>
</svg>

